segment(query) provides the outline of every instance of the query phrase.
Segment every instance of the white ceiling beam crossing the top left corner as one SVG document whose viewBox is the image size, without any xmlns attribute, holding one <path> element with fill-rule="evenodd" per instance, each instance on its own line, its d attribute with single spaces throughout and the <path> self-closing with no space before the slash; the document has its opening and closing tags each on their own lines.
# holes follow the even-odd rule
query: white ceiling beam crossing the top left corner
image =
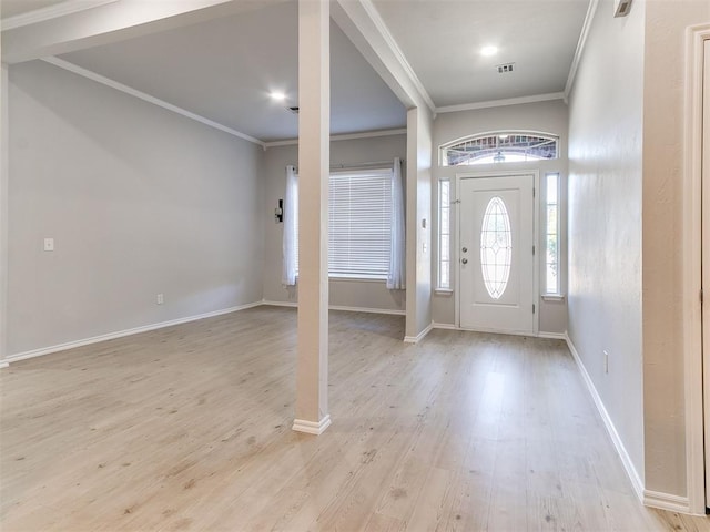
<svg viewBox="0 0 710 532">
<path fill-rule="evenodd" d="M 119 0 L 2 31 L 2 62 L 12 64 L 74 52 L 284 0 Z"/>
</svg>

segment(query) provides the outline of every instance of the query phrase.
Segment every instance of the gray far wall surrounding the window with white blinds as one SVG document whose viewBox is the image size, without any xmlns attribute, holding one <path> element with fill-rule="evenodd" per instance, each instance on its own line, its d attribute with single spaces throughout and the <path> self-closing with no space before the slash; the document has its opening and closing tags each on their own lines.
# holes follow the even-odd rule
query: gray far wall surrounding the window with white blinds
<svg viewBox="0 0 710 532">
<path fill-rule="evenodd" d="M 371 161 L 389 161 L 406 156 L 406 135 L 389 135 L 331 142 L 333 165 L 354 165 Z M 274 208 L 286 188 L 286 165 L 298 163 L 298 146 L 274 146 L 265 154 L 265 200 L 262 224 L 265 227 L 264 299 L 296 303 L 297 288 L 281 284 L 283 224 L 275 223 Z M 404 311 L 405 291 L 388 290 L 384 280 L 332 279 L 331 305 L 341 307 Z"/>
</svg>

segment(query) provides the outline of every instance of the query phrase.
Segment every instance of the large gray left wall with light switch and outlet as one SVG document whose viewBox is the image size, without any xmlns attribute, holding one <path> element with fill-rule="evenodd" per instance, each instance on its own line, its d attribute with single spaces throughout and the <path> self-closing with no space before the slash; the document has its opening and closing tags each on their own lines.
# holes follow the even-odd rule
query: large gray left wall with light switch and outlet
<svg viewBox="0 0 710 532">
<path fill-rule="evenodd" d="M 260 146 L 39 61 L 9 100 L 10 356 L 262 299 Z"/>
</svg>

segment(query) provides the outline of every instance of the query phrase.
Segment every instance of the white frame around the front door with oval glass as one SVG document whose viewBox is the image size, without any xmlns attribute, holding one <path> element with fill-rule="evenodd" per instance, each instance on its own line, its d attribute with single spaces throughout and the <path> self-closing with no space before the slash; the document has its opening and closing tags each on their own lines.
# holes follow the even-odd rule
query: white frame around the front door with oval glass
<svg viewBox="0 0 710 532">
<path fill-rule="evenodd" d="M 457 172 L 456 173 L 456 197 L 455 203 L 458 206 L 456 209 L 456 233 L 454 236 L 456 243 L 456 252 L 452 256 L 452 262 L 456 262 L 456 267 L 452 268 L 454 273 L 454 323 L 456 327 L 462 329 L 460 317 L 460 249 L 462 249 L 462 180 L 480 180 L 480 178 L 495 178 L 495 177 L 516 177 L 516 176 L 531 176 L 532 177 L 532 242 L 535 243 L 535 257 L 532 259 L 532 303 L 535 304 L 535 317 L 532 319 L 532 332 L 530 335 L 538 336 L 540 332 L 540 201 L 538 192 L 540 190 L 540 172 L 538 170 L 521 168 L 518 171 L 480 171 L 480 172 Z M 465 330 L 477 330 L 466 328 Z M 481 330 L 483 331 L 483 330 Z M 490 332 L 486 330 L 485 332 Z M 508 332 L 510 335 L 529 336 L 520 332 Z"/>
</svg>

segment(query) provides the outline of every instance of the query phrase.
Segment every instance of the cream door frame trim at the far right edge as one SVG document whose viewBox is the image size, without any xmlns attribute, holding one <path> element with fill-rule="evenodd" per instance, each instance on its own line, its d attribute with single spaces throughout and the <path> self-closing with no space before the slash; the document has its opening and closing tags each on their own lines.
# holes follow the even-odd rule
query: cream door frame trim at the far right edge
<svg viewBox="0 0 710 532">
<path fill-rule="evenodd" d="M 702 76 L 704 41 L 710 40 L 710 24 L 696 25 L 686 34 L 686 94 L 683 123 L 683 366 L 686 418 L 686 482 L 688 510 L 706 513 L 706 457 L 703 413 L 703 359 L 710 366 L 710 352 L 702 349 Z M 710 290 L 709 290 L 710 291 Z M 710 304 L 708 305 L 710 307 Z M 706 377 L 708 375 L 706 374 Z M 710 380 L 708 393 L 710 393 Z M 709 479 L 710 480 L 710 479 Z"/>
</svg>

